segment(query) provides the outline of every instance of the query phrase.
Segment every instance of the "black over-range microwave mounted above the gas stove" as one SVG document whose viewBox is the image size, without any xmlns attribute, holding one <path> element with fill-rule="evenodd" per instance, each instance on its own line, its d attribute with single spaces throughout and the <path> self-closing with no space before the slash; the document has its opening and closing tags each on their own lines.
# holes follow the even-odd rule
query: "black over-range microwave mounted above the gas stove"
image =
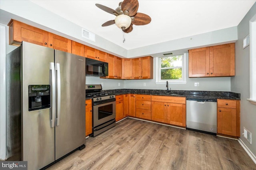
<svg viewBox="0 0 256 170">
<path fill-rule="evenodd" d="M 108 63 L 86 58 L 86 75 L 108 76 Z"/>
</svg>

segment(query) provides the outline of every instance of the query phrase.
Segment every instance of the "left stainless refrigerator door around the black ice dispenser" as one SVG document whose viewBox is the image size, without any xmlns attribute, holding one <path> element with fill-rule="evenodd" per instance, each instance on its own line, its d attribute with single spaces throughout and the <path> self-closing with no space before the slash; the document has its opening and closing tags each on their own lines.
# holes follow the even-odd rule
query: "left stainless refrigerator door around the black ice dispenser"
<svg viewBox="0 0 256 170">
<path fill-rule="evenodd" d="M 28 161 L 29 170 L 35 170 L 54 162 L 54 127 L 51 127 L 52 105 L 48 109 L 28 111 L 28 85 L 51 84 L 54 50 L 23 42 L 21 61 L 22 160 Z"/>
</svg>

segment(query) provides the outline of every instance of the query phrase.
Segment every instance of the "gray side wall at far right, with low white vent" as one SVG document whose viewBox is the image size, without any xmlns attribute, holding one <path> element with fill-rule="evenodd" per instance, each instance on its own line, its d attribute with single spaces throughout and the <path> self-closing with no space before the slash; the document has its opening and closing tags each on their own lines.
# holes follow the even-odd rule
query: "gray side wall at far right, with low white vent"
<svg viewBox="0 0 256 170">
<path fill-rule="evenodd" d="M 238 40 L 236 42 L 236 76 L 231 78 L 231 91 L 241 93 L 241 134 L 240 138 L 256 155 L 256 105 L 246 99 L 250 98 L 249 90 L 249 46 L 243 49 L 243 39 L 249 34 L 249 21 L 256 14 L 256 4 L 252 6 L 244 19 L 238 25 Z M 254 46 L 255 48 L 255 46 Z M 255 75 L 254 75 L 255 76 Z M 252 132 L 252 144 L 242 135 L 243 127 Z"/>
</svg>

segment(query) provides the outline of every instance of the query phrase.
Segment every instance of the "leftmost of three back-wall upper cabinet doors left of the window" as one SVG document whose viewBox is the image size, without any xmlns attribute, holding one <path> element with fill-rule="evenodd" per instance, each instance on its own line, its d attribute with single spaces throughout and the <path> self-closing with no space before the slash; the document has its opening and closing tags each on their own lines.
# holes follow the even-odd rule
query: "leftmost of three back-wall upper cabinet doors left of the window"
<svg viewBox="0 0 256 170">
<path fill-rule="evenodd" d="M 132 79 L 132 59 L 122 58 L 122 79 Z"/>
</svg>

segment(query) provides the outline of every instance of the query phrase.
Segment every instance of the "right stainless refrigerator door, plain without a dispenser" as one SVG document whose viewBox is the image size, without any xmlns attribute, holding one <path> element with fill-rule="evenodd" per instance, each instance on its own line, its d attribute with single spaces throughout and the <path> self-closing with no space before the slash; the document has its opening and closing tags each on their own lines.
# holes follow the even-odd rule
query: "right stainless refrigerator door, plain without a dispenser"
<svg viewBox="0 0 256 170">
<path fill-rule="evenodd" d="M 55 51 L 56 160 L 85 144 L 85 58 Z"/>
</svg>

